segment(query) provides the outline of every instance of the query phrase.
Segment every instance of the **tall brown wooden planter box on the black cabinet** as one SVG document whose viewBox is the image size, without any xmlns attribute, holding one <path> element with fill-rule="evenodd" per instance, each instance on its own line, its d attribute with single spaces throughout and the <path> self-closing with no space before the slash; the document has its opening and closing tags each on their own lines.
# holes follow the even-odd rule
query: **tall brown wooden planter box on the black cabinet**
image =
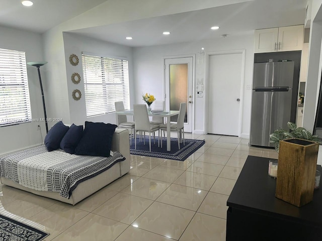
<svg viewBox="0 0 322 241">
<path fill-rule="evenodd" d="M 313 199 L 318 144 L 302 139 L 280 141 L 275 196 L 297 207 Z"/>
</svg>

